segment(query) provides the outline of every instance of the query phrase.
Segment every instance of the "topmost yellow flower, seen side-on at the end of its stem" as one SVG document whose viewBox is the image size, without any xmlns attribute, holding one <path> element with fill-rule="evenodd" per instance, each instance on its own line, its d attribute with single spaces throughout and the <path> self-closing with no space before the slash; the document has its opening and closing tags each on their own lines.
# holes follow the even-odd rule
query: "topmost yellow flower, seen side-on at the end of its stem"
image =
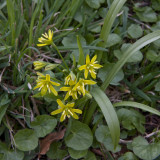
<svg viewBox="0 0 160 160">
<path fill-rule="evenodd" d="M 42 37 L 38 39 L 38 41 L 41 44 L 37 44 L 37 46 L 41 47 L 41 46 L 51 45 L 53 42 L 52 37 L 53 37 L 53 31 L 49 29 L 48 34 L 47 33 L 42 34 Z"/>
</svg>

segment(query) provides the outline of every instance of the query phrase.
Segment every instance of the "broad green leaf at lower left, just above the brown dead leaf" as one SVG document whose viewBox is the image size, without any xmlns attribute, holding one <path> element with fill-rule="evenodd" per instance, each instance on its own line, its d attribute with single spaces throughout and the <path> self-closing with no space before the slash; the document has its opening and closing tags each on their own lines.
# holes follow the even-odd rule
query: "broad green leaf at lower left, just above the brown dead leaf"
<svg viewBox="0 0 160 160">
<path fill-rule="evenodd" d="M 31 123 L 38 137 L 44 137 L 51 133 L 57 125 L 57 120 L 49 115 L 40 115 Z"/>
</svg>

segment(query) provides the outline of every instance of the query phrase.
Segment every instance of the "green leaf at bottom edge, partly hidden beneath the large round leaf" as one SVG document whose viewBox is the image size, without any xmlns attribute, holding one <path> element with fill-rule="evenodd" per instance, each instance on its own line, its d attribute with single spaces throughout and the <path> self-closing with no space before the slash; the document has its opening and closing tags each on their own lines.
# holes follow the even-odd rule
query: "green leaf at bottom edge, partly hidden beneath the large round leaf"
<svg viewBox="0 0 160 160">
<path fill-rule="evenodd" d="M 73 159 L 80 159 L 87 154 L 88 150 L 77 151 L 72 148 L 68 148 L 68 152 Z"/>
</svg>

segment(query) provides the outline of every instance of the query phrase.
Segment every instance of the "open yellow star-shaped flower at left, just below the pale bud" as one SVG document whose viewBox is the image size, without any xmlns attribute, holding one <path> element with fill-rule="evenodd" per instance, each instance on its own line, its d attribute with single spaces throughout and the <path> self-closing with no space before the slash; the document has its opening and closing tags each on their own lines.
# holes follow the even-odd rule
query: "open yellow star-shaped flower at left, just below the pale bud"
<svg viewBox="0 0 160 160">
<path fill-rule="evenodd" d="M 55 96 L 58 95 L 57 91 L 53 88 L 54 86 L 60 86 L 59 83 L 53 82 L 50 80 L 50 75 L 46 74 L 46 76 L 44 76 L 42 73 L 37 73 L 39 74 L 38 80 L 37 80 L 37 85 L 34 87 L 34 89 L 39 88 L 39 90 L 41 90 L 41 95 L 44 96 L 47 91 L 49 91 L 49 93 L 53 93 Z"/>
</svg>

